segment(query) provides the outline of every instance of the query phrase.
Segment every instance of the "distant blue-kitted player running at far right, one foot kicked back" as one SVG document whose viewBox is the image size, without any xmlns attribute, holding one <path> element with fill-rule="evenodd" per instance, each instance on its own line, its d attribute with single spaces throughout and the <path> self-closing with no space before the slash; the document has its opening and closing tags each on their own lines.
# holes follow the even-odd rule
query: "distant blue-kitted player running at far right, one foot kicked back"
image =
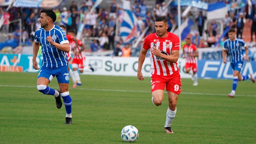
<svg viewBox="0 0 256 144">
<path fill-rule="evenodd" d="M 235 97 L 235 91 L 237 88 L 238 81 L 245 81 L 251 79 L 253 83 L 255 83 L 255 79 L 252 74 L 247 76 L 241 75 L 241 69 L 244 65 L 244 60 L 248 61 L 248 46 L 242 39 L 237 39 L 235 37 L 236 31 L 234 29 L 230 29 L 228 31 L 229 39 L 224 42 L 224 47 L 222 51 L 223 62 L 226 63 L 226 52 L 230 55 L 230 65 L 233 69 L 233 85 L 232 91 L 228 94 L 229 97 Z M 242 54 L 242 47 L 245 47 L 245 57 Z"/>
</svg>

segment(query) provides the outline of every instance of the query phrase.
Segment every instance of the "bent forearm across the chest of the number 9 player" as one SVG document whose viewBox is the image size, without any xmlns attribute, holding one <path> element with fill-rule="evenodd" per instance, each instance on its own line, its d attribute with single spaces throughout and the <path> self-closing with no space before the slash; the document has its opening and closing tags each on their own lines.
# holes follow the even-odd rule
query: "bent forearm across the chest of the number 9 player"
<svg viewBox="0 0 256 144">
<path fill-rule="evenodd" d="M 172 55 L 165 55 L 161 53 L 160 49 L 153 47 L 152 49 L 150 49 L 150 52 L 158 57 L 163 58 L 165 61 L 169 61 L 172 63 L 176 63 L 179 59 L 179 50 L 172 51 Z"/>
</svg>

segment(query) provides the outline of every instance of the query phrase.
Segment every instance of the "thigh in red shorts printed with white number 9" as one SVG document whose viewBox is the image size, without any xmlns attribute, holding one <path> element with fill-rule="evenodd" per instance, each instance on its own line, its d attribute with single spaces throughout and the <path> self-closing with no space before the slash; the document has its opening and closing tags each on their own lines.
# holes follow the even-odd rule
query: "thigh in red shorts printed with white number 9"
<svg viewBox="0 0 256 144">
<path fill-rule="evenodd" d="M 169 81 L 166 83 L 166 90 L 176 94 L 180 94 L 181 82 L 179 73 L 170 76 Z"/>
</svg>

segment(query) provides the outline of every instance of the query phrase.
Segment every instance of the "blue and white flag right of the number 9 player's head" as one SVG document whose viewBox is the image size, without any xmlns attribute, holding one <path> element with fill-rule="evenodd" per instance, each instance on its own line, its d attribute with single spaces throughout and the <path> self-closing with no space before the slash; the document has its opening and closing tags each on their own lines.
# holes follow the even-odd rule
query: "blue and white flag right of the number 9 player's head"
<svg viewBox="0 0 256 144">
<path fill-rule="evenodd" d="M 182 25 L 180 26 L 181 40 L 186 39 L 187 35 L 190 33 L 192 25 L 194 25 L 193 20 L 188 18 L 182 23 Z M 173 33 L 179 35 L 178 29 L 176 29 Z"/>
</svg>

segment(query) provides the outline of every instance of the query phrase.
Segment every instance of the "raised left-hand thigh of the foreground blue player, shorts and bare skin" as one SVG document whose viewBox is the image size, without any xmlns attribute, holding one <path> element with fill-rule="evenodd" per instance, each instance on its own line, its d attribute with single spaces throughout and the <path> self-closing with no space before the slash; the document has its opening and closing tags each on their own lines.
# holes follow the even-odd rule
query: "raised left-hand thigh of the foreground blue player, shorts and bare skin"
<svg viewBox="0 0 256 144">
<path fill-rule="evenodd" d="M 37 76 L 37 85 L 48 85 L 53 79 L 54 75 L 47 68 L 41 68 Z"/>
</svg>

